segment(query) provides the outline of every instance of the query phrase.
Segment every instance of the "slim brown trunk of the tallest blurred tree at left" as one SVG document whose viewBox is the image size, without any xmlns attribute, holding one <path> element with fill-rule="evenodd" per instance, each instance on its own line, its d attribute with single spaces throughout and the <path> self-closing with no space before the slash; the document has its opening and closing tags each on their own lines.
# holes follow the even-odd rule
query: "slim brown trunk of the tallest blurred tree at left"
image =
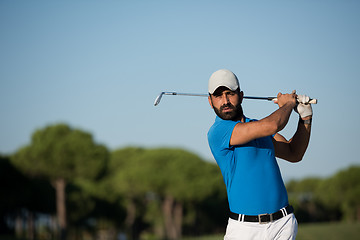
<svg viewBox="0 0 360 240">
<path fill-rule="evenodd" d="M 66 182 L 64 178 L 58 178 L 53 182 L 56 191 L 56 212 L 60 227 L 60 239 L 66 239 L 66 195 L 65 187 Z"/>
</svg>

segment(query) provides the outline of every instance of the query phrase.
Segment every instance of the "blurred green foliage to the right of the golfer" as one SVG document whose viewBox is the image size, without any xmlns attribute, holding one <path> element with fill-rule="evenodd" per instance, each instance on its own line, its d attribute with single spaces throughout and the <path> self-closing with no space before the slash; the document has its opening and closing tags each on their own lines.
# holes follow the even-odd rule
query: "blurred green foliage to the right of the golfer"
<svg viewBox="0 0 360 240">
<path fill-rule="evenodd" d="M 326 179 L 307 178 L 287 184 L 289 201 L 301 221 L 360 220 L 360 167 Z"/>
</svg>

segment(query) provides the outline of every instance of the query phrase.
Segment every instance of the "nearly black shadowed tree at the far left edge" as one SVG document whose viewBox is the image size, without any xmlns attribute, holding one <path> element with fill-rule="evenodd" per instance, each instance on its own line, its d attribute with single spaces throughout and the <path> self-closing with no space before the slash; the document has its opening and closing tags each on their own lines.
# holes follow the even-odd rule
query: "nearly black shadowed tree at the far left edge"
<svg viewBox="0 0 360 240">
<path fill-rule="evenodd" d="M 55 212 L 55 204 L 51 202 L 55 199 L 52 197 L 53 188 L 44 180 L 24 176 L 10 163 L 10 157 L 5 156 L 0 156 L 0 188 L 5 193 L 0 198 L 0 234 L 13 230 L 8 228 L 5 220 L 26 222 L 26 227 L 23 224 L 15 224 L 15 235 L 33 239 L 33 213 L 51 215 Z"/>
</svg>

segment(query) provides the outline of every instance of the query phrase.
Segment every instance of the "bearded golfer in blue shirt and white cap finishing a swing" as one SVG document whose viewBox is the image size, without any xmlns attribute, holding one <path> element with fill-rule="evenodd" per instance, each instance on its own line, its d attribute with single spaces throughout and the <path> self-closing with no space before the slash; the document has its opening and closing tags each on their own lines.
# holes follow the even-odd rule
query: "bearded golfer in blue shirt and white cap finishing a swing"
<svg viewBox="0 0 360 240">
<path fill-rule="evenodd" d="M 279 108 L 254 120 L 241 106 L 243 92 L 237 77 L 221 69 L 209 79 L 209 103 L 217 117 L 208 132 L 211 152 L 226 185 L 229 220 L 224 240 L 295 239 L 297 221 L 276 158 L 301 161 L 310 139 L 312 108 L 309 97 L 279 93 Z M 294 136 L 278 132 L 291 112 L 299 114 Z"/>
</svg>

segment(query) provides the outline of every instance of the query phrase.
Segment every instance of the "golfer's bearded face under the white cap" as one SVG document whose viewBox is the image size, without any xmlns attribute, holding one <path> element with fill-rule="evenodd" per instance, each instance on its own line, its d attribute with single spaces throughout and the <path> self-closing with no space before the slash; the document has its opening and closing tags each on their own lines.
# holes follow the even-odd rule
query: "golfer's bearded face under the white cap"
<svg viewBox="0 0 360 240">
<path fill-rule="evenodd" d="M 243 92 L 231 91 L 226 87 L 219 87 L 209 96 L 209 103 L 216 115 L 224 120 L 241 120 L 243 110 L 241 102 Z"/>
</svg>

